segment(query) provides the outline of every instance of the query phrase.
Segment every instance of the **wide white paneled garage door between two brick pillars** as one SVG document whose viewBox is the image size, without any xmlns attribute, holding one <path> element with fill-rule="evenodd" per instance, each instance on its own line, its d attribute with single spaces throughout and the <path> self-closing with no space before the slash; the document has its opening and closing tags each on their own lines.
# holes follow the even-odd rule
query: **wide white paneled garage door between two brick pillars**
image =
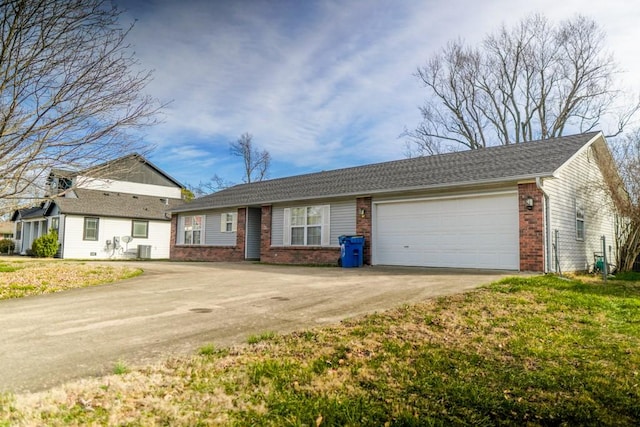
<svg viewBox="0 0 640 427">
<path fill-rule="evenodd" d="M 517 270 L 516 193 L 376 205 L 375 264 Z"/>
</svg>

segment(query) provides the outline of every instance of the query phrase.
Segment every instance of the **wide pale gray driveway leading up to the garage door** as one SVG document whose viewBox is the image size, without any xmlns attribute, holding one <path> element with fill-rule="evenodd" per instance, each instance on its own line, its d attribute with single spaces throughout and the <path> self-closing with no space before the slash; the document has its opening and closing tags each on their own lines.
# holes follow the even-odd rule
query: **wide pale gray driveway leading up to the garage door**
<svg viewBox="0 0 640 427">
<path fill-rule="evenodd" d="M 142 276 L 0 301 L 0 391 L 43 390 L 207 343 L 290 332 L 433 296 L 509 272 L 360 269 L 250 263 L 127 263 Z"/>
</svg>

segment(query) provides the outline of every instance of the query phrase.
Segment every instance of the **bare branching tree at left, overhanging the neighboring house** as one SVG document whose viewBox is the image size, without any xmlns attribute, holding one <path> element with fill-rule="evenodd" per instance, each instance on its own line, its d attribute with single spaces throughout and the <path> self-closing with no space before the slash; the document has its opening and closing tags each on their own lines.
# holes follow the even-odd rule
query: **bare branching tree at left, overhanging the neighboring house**
<svg viewBox="0 0 640 427">
<path fill-rule="evenodd" d="M 160 105 L 120 15 L 106 0 L 0 1 L 0 202 L 42 188 L 52 167 L 144 151 L 126 132 Z"/>
</svg>

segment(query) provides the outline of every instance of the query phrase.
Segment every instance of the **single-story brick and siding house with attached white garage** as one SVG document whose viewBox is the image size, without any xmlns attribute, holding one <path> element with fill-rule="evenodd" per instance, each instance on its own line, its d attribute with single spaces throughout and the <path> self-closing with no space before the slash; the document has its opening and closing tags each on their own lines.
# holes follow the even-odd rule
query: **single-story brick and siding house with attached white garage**
<svg viewBox="0 0 640 427">
<path fill-rule="evenodd" d="M 171 209 L 171 259 L 336 264 L 362 235 L 367 264 L 585 270 L 615 259 L 612 165 L 590 132 L 237 185 Z"/>
</svg>

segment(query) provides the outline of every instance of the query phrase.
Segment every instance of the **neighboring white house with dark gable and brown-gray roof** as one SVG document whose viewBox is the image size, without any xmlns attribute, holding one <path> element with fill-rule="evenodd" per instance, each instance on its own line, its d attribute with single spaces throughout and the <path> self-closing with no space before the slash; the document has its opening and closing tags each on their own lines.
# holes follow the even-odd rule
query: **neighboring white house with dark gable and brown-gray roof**
<svg viewBox="0 0 640 427">
<path fill-rule="evenodd" d="M 17 210 L 16 252 L 58 232 L 60 258 L 169 258 L 171 217 L 182 185 L 138 154 L 80 172 L 52 170 L 39 206 Z"/>
</svg>

